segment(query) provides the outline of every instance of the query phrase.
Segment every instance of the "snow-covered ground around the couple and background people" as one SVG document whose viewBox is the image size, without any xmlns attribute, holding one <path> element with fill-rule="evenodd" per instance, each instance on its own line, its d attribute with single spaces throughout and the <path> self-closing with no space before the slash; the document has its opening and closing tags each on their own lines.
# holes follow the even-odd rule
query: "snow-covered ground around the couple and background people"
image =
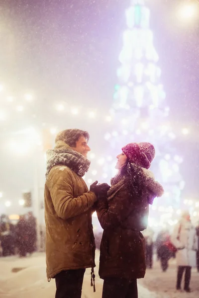
<svg viewBox="0 0 199 298">
<path fill-rule="evenodd" d="M 97 252 L 96 263 L 99 262 Z M 0 298 L 54 298 L 55 282 L 46 279 L 45 254 L 35 253 L 31 257 L 0 258 Z M 90 286 L 90 269 L 86 271 L 82 298 L 101 298 L 102 283 L 96 272 L 96 293 Z M 176 266 L 171 260 L 167 272 L 160 270 L 159 263 L 147 270 L 146 277 L 139 280 L 139 298 L 199 298 L 199 273 L 193 269 L 192 293 L 175 291 Z"/>
</svg>

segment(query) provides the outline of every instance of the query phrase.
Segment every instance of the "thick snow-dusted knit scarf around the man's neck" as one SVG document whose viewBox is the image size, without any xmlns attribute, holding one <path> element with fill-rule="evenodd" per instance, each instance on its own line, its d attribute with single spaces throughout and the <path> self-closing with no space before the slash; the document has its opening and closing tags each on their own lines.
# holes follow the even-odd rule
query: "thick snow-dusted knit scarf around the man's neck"
<svg viewBox="0 0 199 298">
<path fill-rule="evenodd" d="M 46 157 L 46 178 L 55 165 L 66 165 L 76 174 L 83 177 L 85 173 L 88 172 L 91 163 L 84 155 L 71 149 L 71 147 L 63 141 L 58 141 L 55 149 L 47 150 Z"/>
</svg>

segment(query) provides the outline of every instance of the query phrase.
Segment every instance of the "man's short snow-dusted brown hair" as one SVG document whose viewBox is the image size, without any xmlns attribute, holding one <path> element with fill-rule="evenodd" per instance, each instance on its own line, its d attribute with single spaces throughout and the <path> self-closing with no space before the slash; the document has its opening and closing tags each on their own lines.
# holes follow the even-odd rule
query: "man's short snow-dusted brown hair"
<svg viewBox="0 0 199 298">
<path fill-rule="evenodd" d="M 70 147 L 76 147 L 76 142 L 80 139 L 81 136 L 84 136 L 89 141 L 89 133 L 80 129 L 66 129 L 57 134 L 55 143 L 57 141 L 63 141 L 68 144 Z"/>
</svg>

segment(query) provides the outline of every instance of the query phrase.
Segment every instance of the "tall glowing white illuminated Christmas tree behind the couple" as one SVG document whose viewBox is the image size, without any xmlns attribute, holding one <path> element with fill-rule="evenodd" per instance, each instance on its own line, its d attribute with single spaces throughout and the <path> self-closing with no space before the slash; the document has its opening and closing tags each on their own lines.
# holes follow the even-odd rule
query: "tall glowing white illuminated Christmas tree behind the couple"
<svg viewBox="0 0 199 298">
<path fill-rule="evenodd" d="M 171 217 L 173 209 L 180 207 L 184 181 L 179 172 L 182 158 L 172 147 L 175 134 L 168 120 L 169 107 L 160 81 L 159 57 L 153 45 L 149 20 L 150 10 L 144 1 L 131 0 L 126 10 L 127 29 L 123 33 L 118 84 L 110 111 L 112 131 L 105 134 L 105 140 L 110 156 L 120 153 L 126 143 L 146 141 L 154 144 L 156 158 L 151 169 L 164 186 L 165 194 L 155 200 L 151 214 L 158 209 L 166 219 L 167 215 Z M 114 165 L 115 158 L 114 162 L 103 166 L 103 172 L 108 173 L 107 180 L 114 174 L 114 171 L 110 173 Z"/>
</svg>

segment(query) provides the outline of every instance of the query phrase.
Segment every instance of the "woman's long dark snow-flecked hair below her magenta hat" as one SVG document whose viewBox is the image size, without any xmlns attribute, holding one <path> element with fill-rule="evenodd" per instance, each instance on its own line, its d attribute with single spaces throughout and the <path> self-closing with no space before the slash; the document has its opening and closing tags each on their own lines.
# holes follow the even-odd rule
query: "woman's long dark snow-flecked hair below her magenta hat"
<svg viewBox="0 0 199 298">
<path fill-rule="evenodd" d="M 144 188 L 144 176 L 141 167 L 127 160 L 120 172 L 130 194 L 138 198 L 141 197 Z"/>
</svg>

